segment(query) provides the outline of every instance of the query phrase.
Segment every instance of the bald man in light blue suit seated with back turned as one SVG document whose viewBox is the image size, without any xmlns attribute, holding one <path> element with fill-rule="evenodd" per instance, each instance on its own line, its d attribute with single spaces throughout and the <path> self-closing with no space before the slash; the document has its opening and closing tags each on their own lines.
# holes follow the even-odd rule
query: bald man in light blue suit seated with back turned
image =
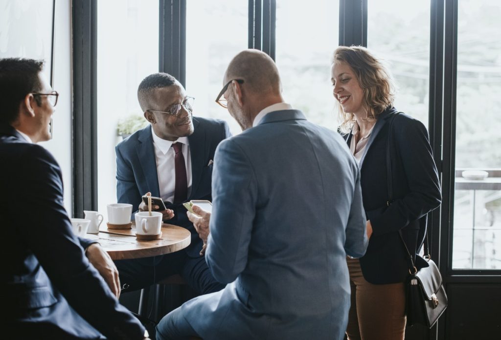
<svg viewBox="0 0 501 340">
<path fill-rule="evenodd" d="M 167 314 L 157 338 L 342 339 L 346 255 L 368 243 L 358 166 L 337 133 L 284 103 L 268 55 L 239 53 L 224 85 L 218 100 L 244 131 L 216 150 L 212 215 L 189 217 L 229 284 Z"/>
</svg>

